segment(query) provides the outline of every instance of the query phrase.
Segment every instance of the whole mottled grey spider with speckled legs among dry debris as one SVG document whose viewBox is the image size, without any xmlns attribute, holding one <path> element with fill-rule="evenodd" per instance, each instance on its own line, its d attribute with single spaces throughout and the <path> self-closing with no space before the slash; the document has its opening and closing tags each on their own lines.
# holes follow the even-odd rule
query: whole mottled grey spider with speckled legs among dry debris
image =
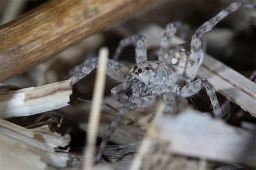
<svg viewBox="0 0 256 170">
<path fill-rule="evenodd" d="M 194 80 L 204 59 L 201 37 L 204 33 L 212 30 L 220 20 L 241 6 L 250 9 L 255 8 L 250 4 L 233 2 L 196 30 L 190 46 L 181 44 L 172 47 L 170 51 L 168 51 L 170 39 L 181 27 L 181 23 L 167 24 L 160 42 L 158 61 L 147 61 L 146 38 L 144 36 L 134 35 L 120 41 L 113 60 L 109 59 L 107 63 L 107 75 L 120 82 L 118 86 L 111 89 L 111 95 L 124 106 L 105 132 L 96 162 L 100 160 L 109 136 L 117 129 L 118 123 L 122 121 L 129 110 L 151 107 L 159 100 L 163 100 L 166 103 L 165 111 L 172 112 L 176 96 L 190 97 L 205 88 L 212 104 L 214 117 L 221 117 L 220 105 L 212 84 L 207 79 Z M 136 66 L 131 70 L 117 61 L 123 48 L 130 44 L 136 46 Z M 90 59 L 83 63 L 82 69 L 75 68 L 75 71 L 72 72 L 77 72 L 78 69 L 79 71 L 70 78 L 72 84 L 91 73 L 97 65 L 97 59 Z M 184 87 L 178 86 L 177 82 L 179 81 L 185 81 L 186 85 Z M 126 96 L 120 95 L 123 91 Z"/>
</svg>

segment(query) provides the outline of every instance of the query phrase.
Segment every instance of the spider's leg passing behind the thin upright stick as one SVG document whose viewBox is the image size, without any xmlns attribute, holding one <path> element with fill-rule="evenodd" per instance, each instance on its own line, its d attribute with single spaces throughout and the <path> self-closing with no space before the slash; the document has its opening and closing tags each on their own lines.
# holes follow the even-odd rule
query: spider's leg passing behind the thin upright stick
<svg viewBox="0 0 256 170">
<path fill-rule="evenodd" d="M 92 61 L 91 63 L 87 63 L 85 61 L 84 63 L 86 63 L 86 65 L 83 66 L 83 68 L 80 69 L 76 74 L 70 77 L 72 85 L 77 83 L 79 80 L 83 79 L 87 75 L 89 75 L 92 72 L 92 70 L 94 70 L 98 66 L 97 60 Z M 124 81 L 125 75 L 129 72 L 129 70 L 129 68 L 127 68 L 125 65 L 117 61 L 109 59 L 107 62 L 106 74 L 118 82 Z"/>
</svg>

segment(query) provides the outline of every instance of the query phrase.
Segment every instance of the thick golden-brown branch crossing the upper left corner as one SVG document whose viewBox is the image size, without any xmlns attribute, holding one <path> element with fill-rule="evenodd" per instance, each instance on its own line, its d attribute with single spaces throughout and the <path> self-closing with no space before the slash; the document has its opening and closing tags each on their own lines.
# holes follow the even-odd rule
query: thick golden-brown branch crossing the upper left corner
<svg viewBox="0 0 256 170">
<path fill-rule="evenodd" d="M 160 2 L 62 0 L 45 3 L 14 22 L 0 26 L 0 82 L 21 74 L 90 34 Z"/>
</svg>

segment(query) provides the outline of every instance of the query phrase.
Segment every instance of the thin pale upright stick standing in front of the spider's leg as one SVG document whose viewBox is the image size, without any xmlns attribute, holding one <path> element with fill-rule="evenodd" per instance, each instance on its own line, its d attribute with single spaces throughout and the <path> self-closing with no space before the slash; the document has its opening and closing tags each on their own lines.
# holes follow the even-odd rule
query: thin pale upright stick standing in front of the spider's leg
<svg viewBox="0 0 256 170">
<path fill-rule="evenodd" d="M 84 169 L 92 169 L 93 147 L 96 143 L 97 130 L 100 118 L 100 109 L 102 107 L 105 79 L 106 63 L 109 55 L 107 48 L 101 48 L 99 51 L 99 66 L 96 75 L 95 88 L 93 90 L 92 108 L 89 118 L 89 127 L 87 133 L 87 147 L 85 152 Z"/>
</svg>

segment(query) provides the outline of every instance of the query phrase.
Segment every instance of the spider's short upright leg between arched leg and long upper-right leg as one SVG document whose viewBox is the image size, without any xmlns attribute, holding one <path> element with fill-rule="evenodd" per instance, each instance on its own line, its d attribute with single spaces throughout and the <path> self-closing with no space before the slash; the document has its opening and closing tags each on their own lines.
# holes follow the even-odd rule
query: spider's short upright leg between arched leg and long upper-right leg
<svg viewBox="0 0 256 170">
<path fill-rule="evenodd" d="M 170 39 L 174 36 L 179 27 L 181 27 L 181 22 L 173 22 L 166 25 L 163 37 L 161 38 L 160 42 L 158 61 L 164 61 L 167 48 L 170 46 Z"/>
</svg>

